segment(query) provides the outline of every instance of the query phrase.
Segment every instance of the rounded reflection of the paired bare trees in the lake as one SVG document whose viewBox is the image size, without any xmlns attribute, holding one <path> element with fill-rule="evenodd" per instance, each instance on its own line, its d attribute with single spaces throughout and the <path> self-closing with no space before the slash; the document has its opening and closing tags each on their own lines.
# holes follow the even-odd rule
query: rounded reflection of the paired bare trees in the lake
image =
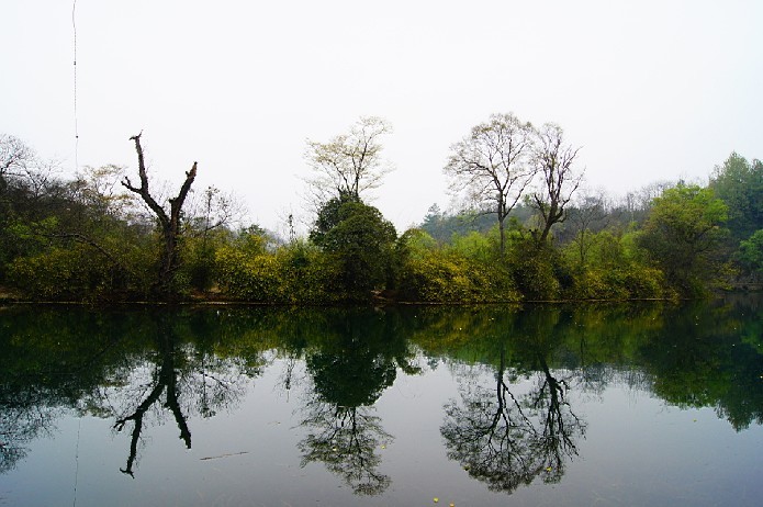
<svg viewBox="0 0 763 507">
<path fill-rule="evenodd" d="M 440 428 L 448 458 L 469 474 L 487 483 L 492 491 L 514 492 L 540 476 L 558 482 L 568 460 L 577 454 L 575 440 L 585 432 L 585 422 L 572 412 L 566 380 L 554 376 L 545 357 L 534 373 L 529 391 L 521 394 L 507 376 L 505 347 L 501 349 L 495 384 L 461 386 L 461 401 L 446 407 Z"/>
</svg>

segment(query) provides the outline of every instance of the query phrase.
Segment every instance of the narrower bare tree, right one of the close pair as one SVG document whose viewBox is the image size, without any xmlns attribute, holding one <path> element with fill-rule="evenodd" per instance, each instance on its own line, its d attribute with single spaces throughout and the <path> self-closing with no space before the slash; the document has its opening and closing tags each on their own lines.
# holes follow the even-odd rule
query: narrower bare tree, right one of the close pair
<svg viewBox="0 0 763 507">
<path fill-rule="evenodd" d="M 547 123 L 536 134 L 537 143 L 532 160 L 542 181 L 531 196 L 531 204 L 541 217 L 539 240 L 546 241 L 554 224 L 564 222 L 564 206 L 580 187 L 582 174 L 573 169 L 580 148 L 564 144 L 559 125 Z"/>
</svg>

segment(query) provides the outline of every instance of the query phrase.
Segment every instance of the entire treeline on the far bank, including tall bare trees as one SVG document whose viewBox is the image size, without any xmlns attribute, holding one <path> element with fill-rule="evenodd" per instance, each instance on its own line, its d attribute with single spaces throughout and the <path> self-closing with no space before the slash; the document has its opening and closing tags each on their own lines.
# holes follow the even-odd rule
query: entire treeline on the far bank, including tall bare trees
<svg viewBox="0 0 763 507">
<path fill-rule="evenodd" d="M 463 205 L 433 205 L 399 232 L 368 201 L 390 170 L 390 132 L 363 117 L 307 143 L 314 218 L 307 236 L 287 238 L 235 225 L 235 198 L 192 189 L 195 162 L 169 195 L 149 181 L 139 135 L 136 180 L 116 166 L 61 178 L 1 135 L 0 292 L 326 305 L 681 298 L 760 284 L 760 160 L 732 153 L 707 184 L 654 183 L 616 200 L 584 188 L 558 125 L 494 114 L 451 146 L 444 168 Z"/>
</svg>

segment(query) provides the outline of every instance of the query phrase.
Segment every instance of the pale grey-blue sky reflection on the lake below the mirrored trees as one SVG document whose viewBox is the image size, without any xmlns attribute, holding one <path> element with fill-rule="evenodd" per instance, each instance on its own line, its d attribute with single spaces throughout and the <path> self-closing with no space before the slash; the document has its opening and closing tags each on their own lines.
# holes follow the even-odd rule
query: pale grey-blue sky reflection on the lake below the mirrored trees
<svg viewBox="0 0 763 507">
<path fill-rule="evenodd" d="M 35 441 L 29 458 L 0 477 L 1 496 L 9 505 L 71 505 L 76 481 L 80 506 L 305 505 L 316 499 L 357 505 L 351 488 L 319 463 L 300 466 L 296 443 L 305 429 L 299 427 L 299 398 L 305 393 L 299 391 L 305 384 L 298 381 L 298 392 L 287 396 L 285 368 L 285 361 L 274 361 L 231 414 L 192 418 L 190 451 L 171 420 L 146 428 L 134 480 L 119 472 L 128 433 L 115 433 L 108 419 L 60 418 L 53 438 Z M 490 385 L 494 379 L 482 371 L 469 382 Z M 520 381 L 516 392 L 530 387 L 530 381 Z M 394 442 L 377 452 L 392 486 L 363 498 L 364 504 L 419 505 L 434 496 L 456 505 L 505 502 L 504 494 L 489 492 L 446 458 L 439 427 L 442 405 L 455 396 L 458 380 L 448 368 L 400 374 L 383 393 L 373 413 Z M 553 487 L 536 481 L 516 489 L 516 505 L 659 505 L 666 498 L 672 505 L 711 505 L 729 496 L 738 498 L 736 505 L 756 505 L 756 495 L 763 494 L 758 485 L 763 474 L 760 426 L 738 433 L 711 409 L 678 409 L 627 386 L 608 387 L 595 397 L 572 392 L 569 401 L 588 425 L 586 438 L 577 442 L 579 458 Z M 46 477 L 43 484 L 41 477 Z"/>
</svg>

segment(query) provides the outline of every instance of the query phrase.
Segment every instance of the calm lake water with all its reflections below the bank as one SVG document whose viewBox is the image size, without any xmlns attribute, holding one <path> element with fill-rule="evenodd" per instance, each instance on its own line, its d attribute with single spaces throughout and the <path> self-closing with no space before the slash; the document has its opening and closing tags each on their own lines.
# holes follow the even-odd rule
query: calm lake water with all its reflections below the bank
<svg viewBox="0 0 763 507">
<path fill-rule="evenodd" d="M 763 302 L 0 309 L 0 505 L 760 506 Z"/>
</svg>

